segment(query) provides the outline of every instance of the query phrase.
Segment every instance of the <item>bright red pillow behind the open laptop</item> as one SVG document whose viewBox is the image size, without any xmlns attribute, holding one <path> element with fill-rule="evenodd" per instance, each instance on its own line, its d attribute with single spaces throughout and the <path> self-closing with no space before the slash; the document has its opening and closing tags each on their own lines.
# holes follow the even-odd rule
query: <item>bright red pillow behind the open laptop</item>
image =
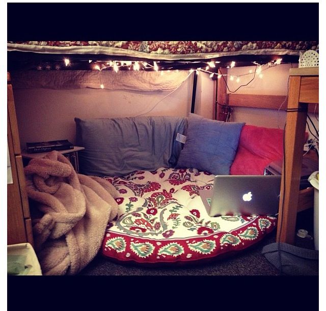
<svg viewBox="0 0 326 311">
<path fill-rule="evenodd" d="M 244 125 L 231 175 L 264 175 L 265 167 L 283 158 L 283 130 Z"/>
</svg>

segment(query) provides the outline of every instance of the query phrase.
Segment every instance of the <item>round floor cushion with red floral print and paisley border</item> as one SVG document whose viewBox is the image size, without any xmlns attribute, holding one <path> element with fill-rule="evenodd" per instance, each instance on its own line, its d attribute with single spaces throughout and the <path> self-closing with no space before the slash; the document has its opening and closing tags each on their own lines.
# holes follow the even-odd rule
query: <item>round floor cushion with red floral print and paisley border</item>
<svg viewBox="0 0 326 311">
<path fill-rule="evenodd" d="M 101 252 L 119 261 L 200 261 L 247 248 L 276 226 L 271 216 L 208 216 L 198 190 L 212 188 L 214 175 L 197 169 L 161 167 L 103 178 L 121 197 Z"/>
</svg>

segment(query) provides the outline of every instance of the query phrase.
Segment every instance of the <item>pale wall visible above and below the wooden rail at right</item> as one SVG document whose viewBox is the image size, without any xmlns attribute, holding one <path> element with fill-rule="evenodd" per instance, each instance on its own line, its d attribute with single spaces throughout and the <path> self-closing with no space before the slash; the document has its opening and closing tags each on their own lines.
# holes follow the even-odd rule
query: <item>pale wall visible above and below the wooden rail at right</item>
<svg viewBox="0 0 326 311">
<path fill-rule="evenodd" d="M 264 66 L 265 67 L 265 66 Z M 264 68 L 263 67 L 263 68 Z M 253 94 L 253 95 L 287 95 L 289 69 L 297 67 L 297 64 L 281 64 L 276 67 L 268 68 L 262 71 L 262 78 L 256 75 L 255 79 L 248 86 L 241 87 L 235 94 Z M 249 73 L 249 70 L 255 71 L 256 66 L 233 67 L 228 69 L 229 75 L 240 76 Z M 253 74 L 241 76 L 240 82 L 230 80 L 228 76 L 227 83 L 230 91 L 235 91 L 240 85 L 247 84 L 253 78 Z M 227 93 L 229 93 L 227 91 Z M 318 129 L 318 121 L 314 114 L 309 114 Z M 318 115 L 317 115 L 318 118 Z M 269 128 L 284 128 L 286 121 L 286 112 L 284 110 L 261 109 L 234 107 L 230 121 L 246 122 L 250 125 L 263 126 Z M 313 133 L 312 125 L 309 125 Z M 308 127 L 306 131 L 309 133 Z M 309 133 L 309 138 L 313 136 Z"/>
</svg>

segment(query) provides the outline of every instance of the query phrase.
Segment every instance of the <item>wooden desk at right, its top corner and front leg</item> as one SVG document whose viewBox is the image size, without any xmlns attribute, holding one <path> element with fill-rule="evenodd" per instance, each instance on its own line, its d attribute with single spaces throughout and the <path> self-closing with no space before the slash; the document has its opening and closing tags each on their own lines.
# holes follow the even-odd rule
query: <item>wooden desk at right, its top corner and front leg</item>
<svg viewBox="0 0 326 311">
<path fill-rule="evenodd" d="M 307 111 L 309 104 L 319 103 L 318 93 L 318 67 L 290 69 L 287 107 L 288 109 L 302 109 L 305 111 L 287 112 L 284 152 L 285 167 L 283 164 L 276 238 L 278 242 L 289 244 L 294 242 Z"/>
</svg>

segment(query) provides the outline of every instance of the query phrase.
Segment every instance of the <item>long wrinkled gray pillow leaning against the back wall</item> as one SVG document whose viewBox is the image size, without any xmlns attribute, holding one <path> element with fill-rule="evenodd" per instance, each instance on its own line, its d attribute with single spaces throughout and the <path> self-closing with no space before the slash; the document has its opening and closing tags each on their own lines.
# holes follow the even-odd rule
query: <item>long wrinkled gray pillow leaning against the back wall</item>
<svg viewBox="0 0 326 311">
<path fill-rule="evenodd" d="M 185 134 L 183 117 L 75 118 L 79 171 L 85 175 L 123 176 L 138 169 L 174 167 L 182 148 L 175 140 Z"/>
</svg>

